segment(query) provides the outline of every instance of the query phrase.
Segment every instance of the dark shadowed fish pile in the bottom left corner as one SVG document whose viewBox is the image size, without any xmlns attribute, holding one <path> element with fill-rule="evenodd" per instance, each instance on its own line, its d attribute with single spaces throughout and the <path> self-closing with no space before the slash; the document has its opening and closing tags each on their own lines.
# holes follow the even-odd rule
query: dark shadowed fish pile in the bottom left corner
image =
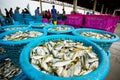
<svg viewBox="0 0 120 80">
<path fill-rule="evenodd" d="M 11 80 L 21 72 L 21 69 L 15 66 L 9 58 L 0 62 L 0 80 Z"/>
</svg>

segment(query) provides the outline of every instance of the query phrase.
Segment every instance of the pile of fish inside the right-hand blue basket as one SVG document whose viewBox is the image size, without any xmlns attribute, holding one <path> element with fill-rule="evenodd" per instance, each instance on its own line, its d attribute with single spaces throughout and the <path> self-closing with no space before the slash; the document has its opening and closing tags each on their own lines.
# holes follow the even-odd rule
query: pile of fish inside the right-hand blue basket
<svg viewBox="0 0 120 80">
<path fill-rule="evenodd" d="M 109 34 L 100 34 L 95 32 L 80 32 L 80 35 L 96 39 L 114 39 L 114 36 L 111 36 Z"/>
</svg>

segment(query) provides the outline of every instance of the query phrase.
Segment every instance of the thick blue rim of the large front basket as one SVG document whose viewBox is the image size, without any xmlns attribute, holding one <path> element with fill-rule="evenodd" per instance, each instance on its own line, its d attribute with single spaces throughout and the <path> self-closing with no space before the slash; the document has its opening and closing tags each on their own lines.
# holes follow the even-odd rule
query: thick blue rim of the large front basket
<svg viewBox="0 0 120 80">
<path fill-rule="evenodd" d="M 50 75 L 50 74 L 45 74 L 45 73 L 42 73 L 42 72 L 38 71 L 37 69 L 35 69 L 29 62 L 29 57 L 28 56 L 30 56 L 30 50 L 32 48 L 36 47 L 37 45 L 41 44 L 40 42 L 42 40 L 52 39 L 52 38 L 55 38 L 56 36 L 59 36 L 61 38 L 67 36 L 70 39 L 75 38 L 76 40 L 78 40 L 78 38 L 79 38 L 80 41 L 84 40 L 84 41 L 87 41 L 88 43 L 92 44 L 92 46 L 96 47 L 96 49 L 99 50 L 99 53 L 100 53 L 100 55 L 102 57 L 101 62 L 99 64 L 99 67 L 96 70 L 94 70 L 93 72 L 91 72 L 89 74 L 86 74 L 84 76 L 76 76 L 76 77 L 74 76 L 74 77 L 70 77 L 70 78 L 62 78 L 62 77 L 57 77 L 57 76 L 53 76 L 53 75 Z M 39 44 L 37 44 L 37 43 L 39 43 Z M 84 38 L 81 38 L 81 37 L 78 37 L 78 36 L 71 36 L 71 35 L 44 36 L 44 37 L 41 37 L 38 40 L 34 41 L 34 43 L 29 43 L 23 49 L 23 51 L 20 54 L 20 65 L 21 65 L 21 68 L 23 69 L 23 71 L 25 72 L 25 74 L 27 76 L 29 76 L 30 78 L 35 79 L 35 80 L 38 80 L 40 78 L 40 76 L 41 76 L 41 78 L 43 76 L 48 77 L 47 79 L 49 79 L 49 80 L 52 80 L 52 79 L 55 79 L 55 80 L 64 80 L 64 79 L 67 79 L 67 80 L 84 80 L 84 79 L 85 80 L 86 79 L 87 80 L 90 80 L 90 79 L 93 79 L 93 80 L 97 80 L 97 79 L 103 80 L 106 77 L 106 75 L 108 74 L 109 68 L 110 68 L 110 62 L 109 62 L 109 59 L 107 57 L 107 54 L 105 54 L 104 50 L 102 50 L 101 47 L 99 47 L 95 43 L 93 43 L 91 41 L 88 41 L 88 40 L 86 40 Z M 35 73 L 35 75 L 33 75 L 34 73 Z M 96 77 L 93 77 L 93 76 L 96 76 Z"/>
</svg>

